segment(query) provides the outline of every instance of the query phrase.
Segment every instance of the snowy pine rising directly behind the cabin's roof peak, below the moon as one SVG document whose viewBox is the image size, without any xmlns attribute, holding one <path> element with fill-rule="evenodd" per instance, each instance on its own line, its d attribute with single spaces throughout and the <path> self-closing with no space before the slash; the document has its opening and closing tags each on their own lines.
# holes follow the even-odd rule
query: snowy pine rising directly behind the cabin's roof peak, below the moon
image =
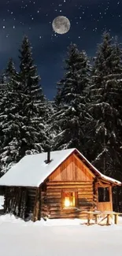
<svg viewBox="0 0 122 256">
<path fill-rule="evenodd" d="M 90 83 L 91 67 L 87 54 L 79 52 L 75 44 L 68 47 L 65 60 L 65 76 L 57 83 L 53 149 L 76 147 L 83 152 L 85 121 L 90 117 L 86 111 L 86 87 Z"/>
</svg>

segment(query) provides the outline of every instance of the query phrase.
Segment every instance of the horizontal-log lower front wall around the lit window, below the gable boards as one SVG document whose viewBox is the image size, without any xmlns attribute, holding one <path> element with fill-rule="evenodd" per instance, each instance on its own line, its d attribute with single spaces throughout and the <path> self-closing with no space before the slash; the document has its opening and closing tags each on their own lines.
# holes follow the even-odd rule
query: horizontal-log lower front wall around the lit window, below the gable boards
<svg viewBox="0 0 122 256">
<path fill-rule="evenodd" d="M 76 208 L 64 209 L 62 192 L 76 191 Z M 81 210 L 94 210 L 93 182 L 48 182 L 46 184 L 45 216 L 50 218 L 80 217 Z M 43 206 L 44 207 L 44 206 Z M 81 217 L 87 217 L 82 214 Z"/>
</svg>

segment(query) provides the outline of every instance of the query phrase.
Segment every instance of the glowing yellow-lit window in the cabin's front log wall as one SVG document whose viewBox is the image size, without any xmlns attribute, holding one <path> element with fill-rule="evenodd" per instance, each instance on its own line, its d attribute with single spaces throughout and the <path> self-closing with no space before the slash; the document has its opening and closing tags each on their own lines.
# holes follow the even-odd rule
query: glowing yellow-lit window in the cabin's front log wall
<svg viewBox="0 0 122 256">
<path fill-rule="evenodd" d="M 63 191 L 63 208 L 76 207 L 76 191 Z"/>
</svg>

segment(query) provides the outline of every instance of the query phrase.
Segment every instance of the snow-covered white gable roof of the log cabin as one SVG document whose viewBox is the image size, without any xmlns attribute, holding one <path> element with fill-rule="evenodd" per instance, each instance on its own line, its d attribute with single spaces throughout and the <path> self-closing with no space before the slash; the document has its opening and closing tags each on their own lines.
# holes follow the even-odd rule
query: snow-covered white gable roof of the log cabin
<svg viewBox="0 0 122 256">
<path fill-rule="evenodd" d="M 95 169 L 94 166 L 84 158 L 83 154 L 80 154 L 78 150 L 72 148 L 50 152 L 51 161 L 48 164 L 46 163 L 47 153 L 26 155 L 2 176 L 0 186 L 39 187 L 39 185 L 73 152 L 76 152 L 79 157 L 83 158 L 84 162 L 91 167 L 91 172 L 93 169 L 97 176 L 101 177 L 103 180 L 108 180 L 117 185 L 121 184 L 118 180 L 113 180 L 108 176 L 102 175 L 98 169 Z"/>
</svg>

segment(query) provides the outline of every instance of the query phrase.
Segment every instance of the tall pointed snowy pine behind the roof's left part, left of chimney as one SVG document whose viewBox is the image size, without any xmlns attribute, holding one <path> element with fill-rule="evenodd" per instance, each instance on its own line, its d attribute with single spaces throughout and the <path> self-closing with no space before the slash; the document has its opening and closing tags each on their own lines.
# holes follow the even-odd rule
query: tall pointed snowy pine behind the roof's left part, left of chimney
<svg viewBox="0 0 122 256">
<path fill-rule="evenodd" d="M 39 85 L 39 76 L 31 53 L 31 44 L 25 36 L 20 49 L 20 158 L 46 150 L 48 139 L 45 131 L 45 99 Z"/>
</svg>

